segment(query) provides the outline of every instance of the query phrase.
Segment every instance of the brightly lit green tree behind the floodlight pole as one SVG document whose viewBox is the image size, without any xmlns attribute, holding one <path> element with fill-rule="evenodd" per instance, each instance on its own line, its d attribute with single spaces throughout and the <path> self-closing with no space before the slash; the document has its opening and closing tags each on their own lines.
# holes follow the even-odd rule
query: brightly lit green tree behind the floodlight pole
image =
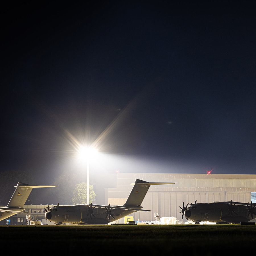
<svg viewBox="0 0 256 256">
<path fill-rule="evenodd" d="M 90 194 L 89 202 L 95 200 L 95 191 L 93 190 L 93 185 L 89 185 Z M 73 190 L 72 204 L 86 204 L 87 201 L 87 184 L 86 182 L 78 183 Z"/>
</svg>

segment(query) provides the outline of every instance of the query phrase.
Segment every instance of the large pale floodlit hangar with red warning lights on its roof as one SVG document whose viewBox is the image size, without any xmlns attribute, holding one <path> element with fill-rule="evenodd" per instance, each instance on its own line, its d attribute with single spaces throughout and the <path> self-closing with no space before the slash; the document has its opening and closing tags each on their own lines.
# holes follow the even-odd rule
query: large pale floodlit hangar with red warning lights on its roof
<svg viewBox="0 0 256 256">
<path fill-rule="evenodd" d="M 105 189 L 105 204 L 123 205 L 136 179 L 148 182 L 176 182 L 170 185 L 150 186 L 143 209 L 150 212 L 131 214 L 135 221 L 154 221 L 155 213 L 160 217 L 175 217 L 180 223 L 182 203 L 212 203 L 234 201 L 256 203 L 256 175 L 247 174 L 161 174 L 161 173 L 117 173 L 116 187 Z"/>
</svg>

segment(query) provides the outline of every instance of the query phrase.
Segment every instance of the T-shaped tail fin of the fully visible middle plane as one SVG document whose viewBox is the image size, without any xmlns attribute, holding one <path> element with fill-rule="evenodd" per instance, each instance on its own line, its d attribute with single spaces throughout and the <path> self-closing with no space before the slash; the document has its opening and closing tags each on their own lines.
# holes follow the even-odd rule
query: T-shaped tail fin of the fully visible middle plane
<svg viewBox="0 0 256 256">
<path fill-rule="evenodd" d="M 147 182 L 136 179 L 133 189 L 124 206 L 140 206 L 144 200 L 150 185 L 175 184 L 176 182 Z M 131 184 L 132 185 L 132 184 Z"/>
</svg>

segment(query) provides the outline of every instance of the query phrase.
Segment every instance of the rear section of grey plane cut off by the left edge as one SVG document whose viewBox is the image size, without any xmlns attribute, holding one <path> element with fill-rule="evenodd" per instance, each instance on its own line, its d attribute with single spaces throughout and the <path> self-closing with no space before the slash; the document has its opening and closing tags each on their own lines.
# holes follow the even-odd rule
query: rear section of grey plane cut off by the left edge
<svg viewBox="0 0 256 256">
<path fill-rule="evenodd" d="M 56 187 L 52 185 L 28 185 L 18 182 L 9 203 L 5 207 L 0 207 L 0 220 L 7 219 L 17 213 L 24 213 L 24 204 L 28 199 L 33 188 L 38 187 Z"/>
</svg>

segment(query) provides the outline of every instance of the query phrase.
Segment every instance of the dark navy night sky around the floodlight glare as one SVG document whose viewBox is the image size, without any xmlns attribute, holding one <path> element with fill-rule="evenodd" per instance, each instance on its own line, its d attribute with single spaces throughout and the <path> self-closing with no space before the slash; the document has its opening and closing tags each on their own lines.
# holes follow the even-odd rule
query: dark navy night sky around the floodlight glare
<svg viewBox="0 0 256 256">
<path fill-rule="evenodd" d="M 0 171 L 51 181 L 98 138 L 106 172 L 255 174 L 255 7 L 4 6 Z"/>
</svg>

